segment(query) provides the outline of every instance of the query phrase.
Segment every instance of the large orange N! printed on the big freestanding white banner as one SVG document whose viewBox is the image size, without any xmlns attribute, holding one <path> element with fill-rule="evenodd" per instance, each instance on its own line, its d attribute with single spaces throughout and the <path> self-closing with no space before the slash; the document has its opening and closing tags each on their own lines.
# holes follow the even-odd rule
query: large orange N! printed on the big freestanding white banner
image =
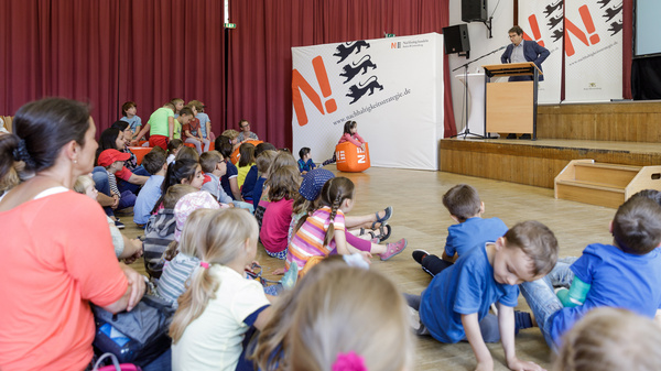
<svg viewBox="0 0 661 371">
<path fill-rule="evenodd" d="M 328 98 L 333 91 L 330 90 L 330 83 L 328 83 L 328 74 L 326 73 L 326 66 L 324 66 L 324 59 L 318 55 L 312 59 L 312 66 L 314 67 L 314 74 L 319 84 L 319 88 L 322 89 L 322 95 L 324 98 Z M 296 118 L 299 119 L 299 126 L 303 127 L 307 124 L 307 112 L 305 112 L 305 106 L 303 105 L 303 96 L 301 91 L 305 94 L 307 99 L 312 100 L 312 103 L 316 109 L 322 113 L 324 112 L 324 106 L 326 107 L 326 111 L 328 113 L 333 113 L 337 110 L 337 103 L 335 99 L 330 98 L 326 100 L 325 105 L 322 106 L 322 98 L 314 90 L 312 85 L 307 83 L 307 80 L 301 75 L 297 69 L 292 72 L 292 101 L 294 103 L 294 111 L 296 112 Z"/>
</svg>

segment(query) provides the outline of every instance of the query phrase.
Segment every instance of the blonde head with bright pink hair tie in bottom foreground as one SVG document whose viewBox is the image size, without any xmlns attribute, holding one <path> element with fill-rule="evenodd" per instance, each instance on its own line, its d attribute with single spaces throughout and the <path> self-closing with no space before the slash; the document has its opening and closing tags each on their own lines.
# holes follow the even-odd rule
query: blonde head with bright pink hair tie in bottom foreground
<svg viewBox="0 0 661 371">
<path fill-rule="evenodd" d="M 286 341 L 292 371 L 410 370 L 414 353 L 402 295 L 384 275 L 358 268 L 305 287 Z"/>
</svg>

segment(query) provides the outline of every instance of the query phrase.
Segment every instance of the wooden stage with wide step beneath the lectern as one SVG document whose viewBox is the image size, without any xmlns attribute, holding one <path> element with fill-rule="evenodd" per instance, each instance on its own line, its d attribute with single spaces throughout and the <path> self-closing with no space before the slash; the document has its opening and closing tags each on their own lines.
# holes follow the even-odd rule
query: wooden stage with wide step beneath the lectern
<svg viewBox="0 0 661 371">
<path fill-rule="evenodd" d="M 571 160 L 661 164 L 661 102 L 539 106 L 538 140 L 443 139 L 438 170 L 553 188 Z"/>
</svg>

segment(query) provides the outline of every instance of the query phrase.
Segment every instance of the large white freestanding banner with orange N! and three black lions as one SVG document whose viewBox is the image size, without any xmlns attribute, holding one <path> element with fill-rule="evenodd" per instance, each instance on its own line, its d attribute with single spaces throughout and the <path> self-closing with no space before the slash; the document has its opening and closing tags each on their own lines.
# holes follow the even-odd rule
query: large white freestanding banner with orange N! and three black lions
<svg viewBox="0 0 661 371">
<path fill-rule="evenodd" d="M 442 35 L 292 47 L 293 151 L 333 156 L 358 122 L 372 166 L 437 170 L 443 138 Z"/>
</svg>

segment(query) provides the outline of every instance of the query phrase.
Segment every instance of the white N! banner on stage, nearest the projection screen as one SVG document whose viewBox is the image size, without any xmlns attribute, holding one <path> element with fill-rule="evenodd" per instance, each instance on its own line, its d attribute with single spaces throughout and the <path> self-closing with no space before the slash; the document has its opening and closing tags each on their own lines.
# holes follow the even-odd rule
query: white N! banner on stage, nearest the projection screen
<svg viewBox="0 0 661 371">
<path fill-rule="evenodd" d="M 565 1 L 565 100 L 622 98 L 622 2 Z"/>
</svg>

